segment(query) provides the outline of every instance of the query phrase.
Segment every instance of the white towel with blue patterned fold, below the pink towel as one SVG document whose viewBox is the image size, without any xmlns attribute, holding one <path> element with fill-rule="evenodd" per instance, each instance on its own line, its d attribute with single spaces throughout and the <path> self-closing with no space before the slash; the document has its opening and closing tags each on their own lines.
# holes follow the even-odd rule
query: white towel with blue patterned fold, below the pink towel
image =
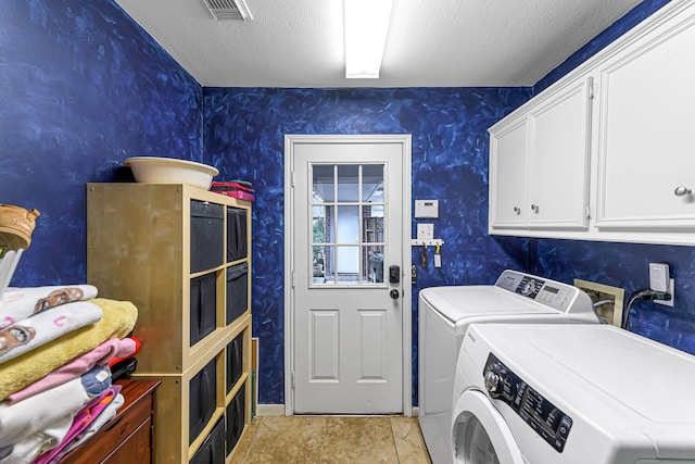
<svg viewBox="0 0 695 464">
<path fill-rule="evenodd" d="M 111 386 L 109 380 L 108 367 L 98 366 L 81 377 L 24 401 L 0 402 L 0 447 L 29 439 L 65 416 L 71 416 L 72 423 L 72 417 L 85 404 Z"/>
</svg>

